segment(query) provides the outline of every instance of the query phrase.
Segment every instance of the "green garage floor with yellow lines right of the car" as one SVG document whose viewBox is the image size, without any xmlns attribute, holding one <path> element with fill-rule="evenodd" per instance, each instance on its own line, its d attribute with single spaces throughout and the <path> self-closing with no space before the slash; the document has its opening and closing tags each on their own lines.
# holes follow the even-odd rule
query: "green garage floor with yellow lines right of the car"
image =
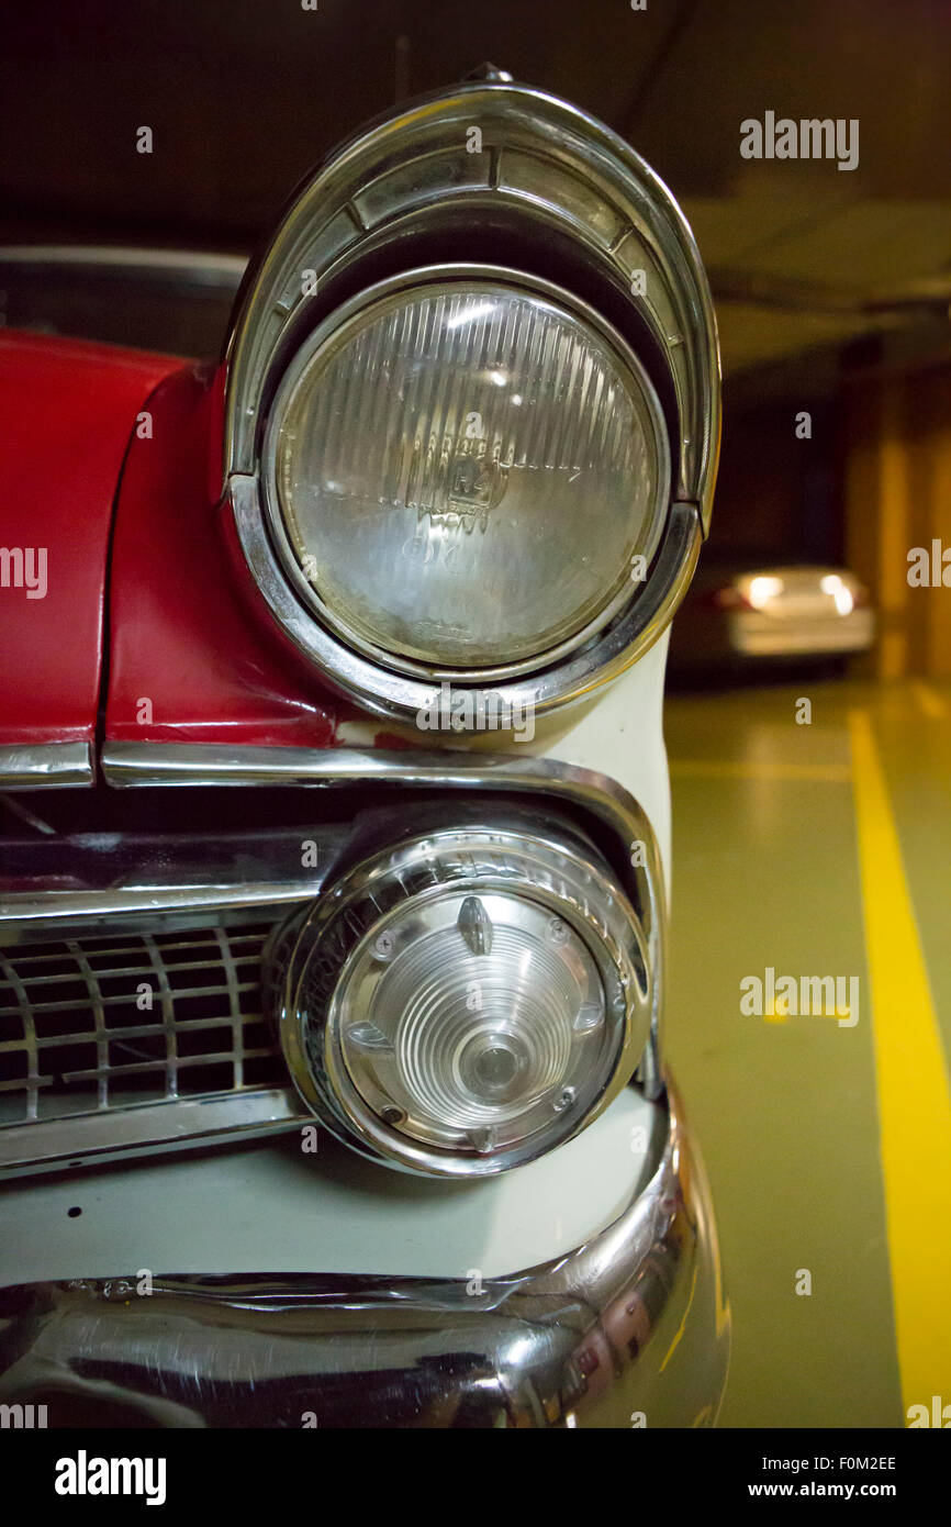
<svg viewBox="0 0 951 1527">
<path fill-rule="evenodd" d="M 667 1046 L 733 1306 L 721 1423 L 902 1426 L 951 1405 L 951 690 L 672 696 L 666 730 Z M 745 1015 L 769 967 L 858 976 L 858 1022 Z"/>
</svg>

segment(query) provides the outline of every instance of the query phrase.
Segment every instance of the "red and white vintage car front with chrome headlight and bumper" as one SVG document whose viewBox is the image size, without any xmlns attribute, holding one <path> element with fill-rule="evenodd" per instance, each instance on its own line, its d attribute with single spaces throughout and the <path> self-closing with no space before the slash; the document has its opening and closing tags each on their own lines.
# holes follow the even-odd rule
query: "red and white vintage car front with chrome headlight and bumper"
<svg viewBox="0 0 951 1527">
<path fill-rule="evenodd" d="M 481 70 L 305 182 L 220 366 L 5 334 L 0 388 L 0 1399 L 711 1425 L 662 690 L 719 365 L 670 192 Z"/>
</svg>

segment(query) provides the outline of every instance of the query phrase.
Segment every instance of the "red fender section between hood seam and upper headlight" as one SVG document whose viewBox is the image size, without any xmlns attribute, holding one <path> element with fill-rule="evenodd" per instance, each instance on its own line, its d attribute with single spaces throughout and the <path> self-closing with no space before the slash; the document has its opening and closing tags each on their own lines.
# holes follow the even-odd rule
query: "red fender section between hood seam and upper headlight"
<svg viewBox="0 0 951 1527">
<path fill-rule="evenodd" d="M 273 621 L 209 489 L 220 373 L 183 366 L 150 402 L 119 493 L 105 734 L 116 742 L 324 748 L 351 707 Z"/>
</svg>

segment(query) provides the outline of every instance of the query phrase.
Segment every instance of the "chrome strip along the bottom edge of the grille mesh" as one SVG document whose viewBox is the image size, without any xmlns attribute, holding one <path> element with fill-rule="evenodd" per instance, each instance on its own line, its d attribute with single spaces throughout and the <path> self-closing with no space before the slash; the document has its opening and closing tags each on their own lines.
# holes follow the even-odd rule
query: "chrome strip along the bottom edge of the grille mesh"
<svg viewBox="0 0 951 1527">
<path fill-rule="evenodd" d="M 0 1173 L 17 1177 L 63 1167 L 98 1167 L 145 1153 L 230 1145 L 307 1122 L 313 1124 L 313 1118 L 301 1107 L 293 1087 L 31 1119 L 0 1128 Z"/>
</svg>

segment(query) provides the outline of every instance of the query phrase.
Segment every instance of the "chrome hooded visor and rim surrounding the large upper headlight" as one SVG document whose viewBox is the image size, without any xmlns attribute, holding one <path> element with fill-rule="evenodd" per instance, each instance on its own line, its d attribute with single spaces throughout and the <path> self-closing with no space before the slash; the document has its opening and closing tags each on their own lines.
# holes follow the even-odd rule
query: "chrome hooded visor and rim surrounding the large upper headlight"
<svg viewBox="0 0 951 1527">
<path fill-rule="evenodd" d="M 534 666 L 450 675 L 458 692 L 492 695 L 502 713 L 543 713 L 635 661 L 690 582 L 716 475 L 710 290 L 676 202 L 623 139 L 543 92 L 473 82 L 401 108 L 339 148 L 299 189 L 238 296 L 223 493 L 284 634 L 337 690 L 411 724 L 449 670 L 423 663 L 400 672 L 321 618 L 275 534 L 266 434 L 275 394 L 319 325 L 333 330 L 394 286 L 464 270 L 554 292 L 633 354 L 662 441 L 664 502 L 650 567 L 623 608 L 571 651 L 539 652 Z"/>
</svg>

